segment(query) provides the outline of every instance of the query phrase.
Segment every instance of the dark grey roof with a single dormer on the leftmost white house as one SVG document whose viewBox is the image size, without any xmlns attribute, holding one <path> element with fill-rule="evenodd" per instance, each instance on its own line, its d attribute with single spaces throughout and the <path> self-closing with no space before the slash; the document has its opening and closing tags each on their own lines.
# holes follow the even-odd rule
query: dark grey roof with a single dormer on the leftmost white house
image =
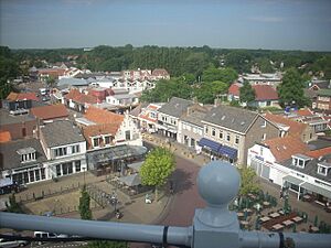
<svg viewBox="0 0 331 248">
<path fill-rule="evenodd" d="M 22 163 L 21 155 L 18 153 L 18 151 L 26 148 L 32 148 L 35 150 L 36 152 L 35 161 Z M 0 154 L 2 157 L 2 160 L 0 160 L 1 170 L 2 168 L 4 170 L 8 170 L 8 169 L 15 169 L 15 168 L 31 166 L 33 164 L 40 164 L 47 160 L 40 141 L 34 138 L 1 143 Z"/>
</svg>

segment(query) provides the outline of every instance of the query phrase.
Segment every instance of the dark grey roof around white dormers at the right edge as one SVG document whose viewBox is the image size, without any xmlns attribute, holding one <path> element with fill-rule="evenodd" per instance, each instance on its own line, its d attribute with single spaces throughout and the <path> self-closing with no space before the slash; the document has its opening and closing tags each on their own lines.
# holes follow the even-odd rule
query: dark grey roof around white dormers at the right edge
<svg viewBox="0 0 331 248">
<path fill-rule="evenodd" d="M 329 170 L 328 175 L 321 175 L 318 173 L 318 163 L 325 160 L 331 161 L 331 154 L 324 155 L 322 160 L 313 159 L 309 161 L 303 169 L 292 165 L 292 159 L 284 161 L 281 165 L 331 183 L 331 170 Z"/>
</svg>

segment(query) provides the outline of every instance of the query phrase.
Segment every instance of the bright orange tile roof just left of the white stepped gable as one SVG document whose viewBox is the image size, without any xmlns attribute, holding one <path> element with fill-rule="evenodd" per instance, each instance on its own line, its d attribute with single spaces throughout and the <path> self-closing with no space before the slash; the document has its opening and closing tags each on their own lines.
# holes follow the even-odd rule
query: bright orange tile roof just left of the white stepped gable
<svg viewBox="0 0 331 248">
<path fill-rule="evenodd" d="M 118 123 L 124 120 L 122 115 L 114 114 L 104 109 L 89 107 L 84 116 L 86 119 L 92 120 L 95 123 Z"/>
</svg>

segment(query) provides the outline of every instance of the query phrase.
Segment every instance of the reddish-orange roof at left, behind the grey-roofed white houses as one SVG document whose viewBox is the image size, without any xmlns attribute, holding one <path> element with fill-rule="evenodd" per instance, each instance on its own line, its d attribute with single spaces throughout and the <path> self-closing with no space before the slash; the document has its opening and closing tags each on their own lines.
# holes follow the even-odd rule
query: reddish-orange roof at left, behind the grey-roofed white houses
<svg viewBox="0 0 331 248">
<path fill-rule="evenodd" d="M 50 106 L 35 107 L 32 108 L 30 112 L 33 116 L 43 120 L 68 117 L 68 111 L 64 105 L 50 105 Z"/>
</svg>

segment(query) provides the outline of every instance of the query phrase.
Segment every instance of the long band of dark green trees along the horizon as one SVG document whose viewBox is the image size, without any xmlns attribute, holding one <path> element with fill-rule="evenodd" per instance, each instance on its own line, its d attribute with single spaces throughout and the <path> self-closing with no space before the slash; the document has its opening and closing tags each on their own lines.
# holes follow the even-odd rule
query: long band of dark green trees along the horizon
<svg viewBox="0 0 331 248">
<path fill-rule="evenodd" d="M 61 50 L 17 50 L 17 61 L 29 62 L 30 66 L 41 65 L 42 60 L 49 63 L 66 62 L 67 56 L 76 55 L 76 66 L 95 72 L 114 72 L 130 68 L 166 68 L 171 76 L 184 73 L 201 76 L 210 65 L 233 67 L 238 73 L 249 73 L 253 66 L 263 73 L 285 71 L 290 67 L 301 69 L 302 74 L 320 75 L 331 78 L 331 53 L 302 51 L 268 50 L 225 50 L 201 47 L 164 47 L 164 46 L 96 46 L 92 51 L 83 48 Z M 39 66 L 36 66 L 39 67 Z"/>
</svg>

